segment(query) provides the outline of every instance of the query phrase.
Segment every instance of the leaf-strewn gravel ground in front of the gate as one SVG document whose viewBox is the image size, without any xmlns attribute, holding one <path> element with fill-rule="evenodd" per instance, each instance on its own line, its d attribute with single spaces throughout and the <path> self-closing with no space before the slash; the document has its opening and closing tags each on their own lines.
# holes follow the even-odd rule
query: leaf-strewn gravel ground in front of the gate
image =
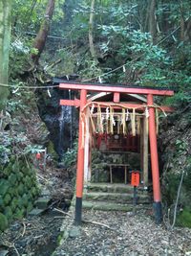
<svg viewBox="0 0 191 256">
<path fill-rule="evenodd" d="M 136 216 L 124 212 L 84 211 L 84 219 L 109 225 L 83 223 L 80 236 L 73 237 L 72 220 L 63 222 L 62 244 L 53 256 L 179 256 L 191 255 L 191 229 L 168 231 L 156 225 L 152 210 L 141 210 Z M 76 230 L 75 230 L 76 231 Z"/>
</svg>

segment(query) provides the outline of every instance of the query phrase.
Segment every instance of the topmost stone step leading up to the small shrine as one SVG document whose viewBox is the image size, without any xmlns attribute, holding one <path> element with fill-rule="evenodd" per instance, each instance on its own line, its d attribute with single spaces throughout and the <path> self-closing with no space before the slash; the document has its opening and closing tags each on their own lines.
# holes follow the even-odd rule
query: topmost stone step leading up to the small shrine
<svg viewBox="0 0 191 256">
<path fill-rule="evenodd" d="M 122 183 L 88 183 L 84 186 L 88 192 L 107 192 L 107 193 L 133 193 L 133 187 Z M 138 187 L 138 195 L 148 195 L 143 187 Z"/>
</svg>

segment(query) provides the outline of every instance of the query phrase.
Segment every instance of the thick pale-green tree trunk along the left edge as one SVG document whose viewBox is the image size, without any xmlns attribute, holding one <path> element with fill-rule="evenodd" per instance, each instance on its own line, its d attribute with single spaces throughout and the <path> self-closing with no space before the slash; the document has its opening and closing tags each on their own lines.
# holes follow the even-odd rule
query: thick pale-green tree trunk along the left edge
<svg viewBox="0 0 191 256">
<path fill-rule="evenodd" d="M 0 0 L 0 83 L 8 84 L 11 42 L 11 0 Z M 9 88 L 0 86 L 0 110 L 4 109 Z"/>
</svg>

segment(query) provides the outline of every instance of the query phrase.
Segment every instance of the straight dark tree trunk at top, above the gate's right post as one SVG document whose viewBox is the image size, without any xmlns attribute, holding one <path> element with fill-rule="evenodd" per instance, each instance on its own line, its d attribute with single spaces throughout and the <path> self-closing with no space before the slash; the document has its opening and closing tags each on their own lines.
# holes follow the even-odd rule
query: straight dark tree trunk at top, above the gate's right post
<svg viewBox="0 0 191 256">
<path fill-rule="evenodd" d="M 153 44 L 157 42 L 157 20 L 156 20 L 157 1 L 151 0 L 149 13 L 149 32 L 152 36 Z"/>
</svg>

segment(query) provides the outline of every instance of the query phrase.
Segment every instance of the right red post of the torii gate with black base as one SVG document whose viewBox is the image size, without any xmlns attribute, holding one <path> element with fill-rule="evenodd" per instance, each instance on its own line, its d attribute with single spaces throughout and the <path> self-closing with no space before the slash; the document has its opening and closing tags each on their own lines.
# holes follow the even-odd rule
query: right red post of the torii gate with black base
<svg viewBox="0 0 191 256">
<path fill-rule="evenodd" d="M 153 107 L 154 100 L 153 95 L 147 96 L 147 104 L 149 105 L 149 139 L 150 139 L 150 151 L 151 151 L 151 166 L 153 176 L 153 196 L 154 196 L 154 212 L 156 222 L 159 224 L 162 221 L 161 213 L 161 198 L 159 188 L 159 158 L 158 158 L 158 146 L 157 146 L 157 132 L 155 122 L 155 109 Z"/>
</svg>

